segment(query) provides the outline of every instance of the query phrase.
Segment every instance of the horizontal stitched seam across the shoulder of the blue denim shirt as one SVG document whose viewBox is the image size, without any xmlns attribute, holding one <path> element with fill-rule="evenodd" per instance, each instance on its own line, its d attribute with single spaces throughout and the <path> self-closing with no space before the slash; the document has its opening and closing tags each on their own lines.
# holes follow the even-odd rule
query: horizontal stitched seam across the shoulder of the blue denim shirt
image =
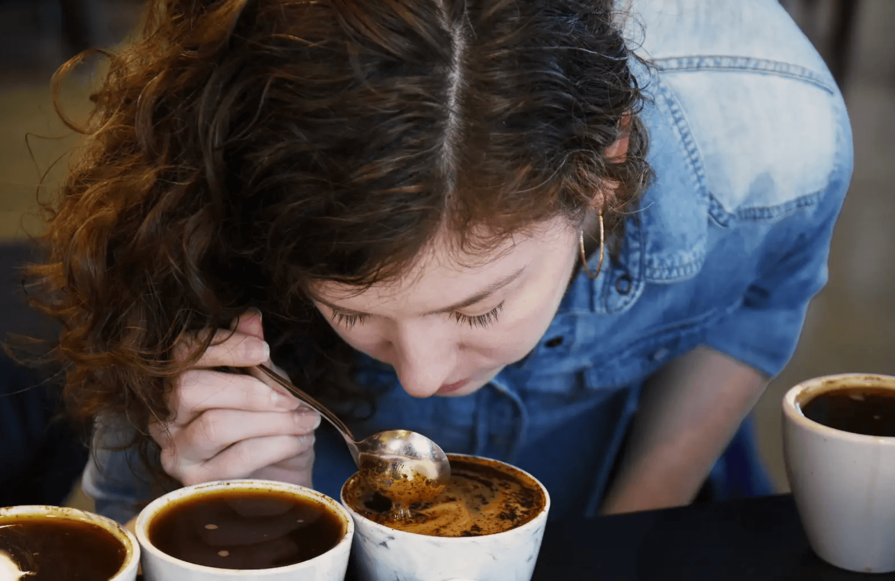
<svg viewBox="0 0 895 581">
<path fill-rule="evenodd" d="M 797 64 L 770 59 L 729 55 L 669 56 L 652 63 L 663 72 L 730 71 L 770 74 L 802 80 L 831 94 L 836 92 L 835 84 L 826 76 Z"/>
</svg>

